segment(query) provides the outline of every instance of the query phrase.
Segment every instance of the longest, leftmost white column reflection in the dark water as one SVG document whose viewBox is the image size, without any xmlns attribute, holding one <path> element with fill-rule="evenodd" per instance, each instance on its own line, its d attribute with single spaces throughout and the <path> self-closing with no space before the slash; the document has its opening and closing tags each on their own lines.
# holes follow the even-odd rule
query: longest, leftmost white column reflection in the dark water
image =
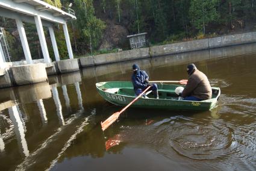
<svg viewBox="0 0 256 171">
<path fill-rule="evenodd" d="M 25 139 L 25 127 L 22 124 L 22 117 L 19 115 L 19 110 L 17 106 L 13 106 L 8 108 L 11 122 L 14 125 L 14 132 L 17 137 L 17 142 L 19 143 L 20 150 L 25 154 L 26 157 L 30 155 L 30 151 L 28 151 L 28 144 Z"/>
</svg>

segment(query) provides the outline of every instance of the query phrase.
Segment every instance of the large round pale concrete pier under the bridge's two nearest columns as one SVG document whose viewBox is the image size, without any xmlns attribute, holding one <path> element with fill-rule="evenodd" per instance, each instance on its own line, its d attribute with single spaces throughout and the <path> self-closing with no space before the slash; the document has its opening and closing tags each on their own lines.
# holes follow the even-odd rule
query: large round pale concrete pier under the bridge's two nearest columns
<svg viewBox="0 0 256 171">
<path fill-rule="evenodd" d="M 16 85 L 33 84 L 47 81 L 45 64 L 28 64 L 11 67 Z"/>
</svg>

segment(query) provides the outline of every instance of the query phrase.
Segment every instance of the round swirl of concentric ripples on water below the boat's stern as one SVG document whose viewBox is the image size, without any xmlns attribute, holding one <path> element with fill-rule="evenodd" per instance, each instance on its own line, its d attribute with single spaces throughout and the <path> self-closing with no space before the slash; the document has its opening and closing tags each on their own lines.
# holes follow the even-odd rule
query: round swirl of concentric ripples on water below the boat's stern
<svg viewBox="0 0 256 171">
<path fill-rule="evenodd" d="M 223 125 L 186 125 L 174 127 L 169 144 L 184 157 L 209 160 L 225 156 L 232 144 L 232 132 Z"/>
</svg>

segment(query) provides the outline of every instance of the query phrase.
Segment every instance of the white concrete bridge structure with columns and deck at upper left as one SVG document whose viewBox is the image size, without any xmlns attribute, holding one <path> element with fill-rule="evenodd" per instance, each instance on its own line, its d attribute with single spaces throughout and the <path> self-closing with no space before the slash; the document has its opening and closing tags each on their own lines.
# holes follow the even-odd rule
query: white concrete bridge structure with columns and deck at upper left
<svg viewBox="0 0 256 171">
<path fill-rule="evenodd" d="M 1 0 L 0 16 L 14 19 L 16 21 L 17 30 L 19 32 L 20 41 L 21 41 L 23 52 L 25 55 L 25 61 L 23 63 L 20 62 L 18 65 L 22 65 L 23 70 L 29 70 L 29 71 L 26 71 L 25 75 L 29 75 L 28 77 L 33 77 L 30 75 L 30 74 L 33 74 L 31 73 L 32 72 L 31 69 L 33 68 L 33 64 L 36 64 L 39 62 L 36 60 L 33 60 L 31 57 L 30 47 L 28 45 L 26 30 L 23 26 L 23 22 L 34 23 L 36 25 L 37 33 L 39 36 L 39 42 L 40 42 L 40 46 L 42 48 L 42 54 L 43 54 L 43 60 L 40 60 L 40 63 L 44 63 L 43 66 L 45 66 L 45 68 L 43 67 L 42 68 L 45 69 L 46 72 L 47 72 L 47 69 L 51 67 L 55 67 L 56 64 L 52 64 L 51 58 L 49 56 L 49 51 L 46 44 L 43 26 L 48 28 L 48 31 L 51 37 L 52 48 L 54 49 L 55 60 L 57 63 L 58 61 L 60 61 L 60 55 L 58 53 L 58 47 L 57 47 L 57 42 L 55 40 L 53 25 L 58 24 L 63 26 L 64 37 L 66 40 L 67 51 L 69 54 L 69 60 L 71 61 L 71 62 L 70 61 L 67 62 L 67 64 L 66 63 L 64 64 L 64 70 L 68 71 L 69 66 L 71 67 L 74 66 L 73 64 L 74 61 L 72 60 L 75 60 L 75 59 L 73 59 L 72 46 L 70 43 L 69 32 L 67 29 L 67 22 L 70 20 L 76 19 L 76 16 L 73 10 L 69 8 L 67 9 L 67 11 L 64 11 L 40 0 Z M 1 82 L 2 82 L 1 77 L 5 75 L 5 73 L 7 73 L 7 67 L 9 68 L 10 66 L 13 66 L 11 70 L 13 75 L 15 74 L 14 65 L 10 64 L 10 62 L 6 60 L 7 58 L 4 55 L 6 54 L 4 50 L 5 48 L 6 47 L 3 47 L 2 45 L 0 45 L 0 51 L 1 51 L 0 52 L 0 87 L 6 87 L 5 85 L 1 86 Z M 75 61 L 75 63 L 78 63 L 77 60 Z M 27 65 L 27 67 L 24 67 L 24 64 Z M 28 69 L 28 65 L 32 67 Z M 63 66 L 63 62 L 60 63 L 60 69 L 61 69 L 61 66 Z M 70 71 L 79 70 L 78 64 L 75 64 L 75 67 L 78 67 L 78 68 L 77 69 L 71 68 Z M 34 67 L 34 68 L 38 70 L 40 67 Z M 19 72 L 20 72 L 20 69 L 19 69 Z M 51 73 L 48 75 L 51 75 Z M 15 77 L 15 75 L 10 76 L 10 79 L 13 77 Z M 9 79 L 9 78 L 5 78 L 5 79 Z M 46 79 L 47 79 L 47 75 L 46 75 Z M 42 81 L 42 79 L 38 79 L 36 82 L 38 81 Z M 19 81 L 14 81 L 14 82 L 19 84 L 18 83 Z M 33 82 L 34 81 L 31 82 L 31 80 L 28 80 L 27 82 L 25 81 L 24 84 L 30 84 Z M 7 86 L 7 87 L 11 87 L 11 86 Z"/>
</svg>

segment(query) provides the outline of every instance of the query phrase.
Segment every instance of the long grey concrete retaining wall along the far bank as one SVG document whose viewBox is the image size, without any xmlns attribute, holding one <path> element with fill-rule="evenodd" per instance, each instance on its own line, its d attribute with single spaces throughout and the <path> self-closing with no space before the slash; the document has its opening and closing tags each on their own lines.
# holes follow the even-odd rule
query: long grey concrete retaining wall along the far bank
<svg viewBox="0 0 256 171">
<path fill-rule="evenodd" d="M 82 57 L 80 58 L 80 61 L 82 67 L 98 66 L 101 64 L 117 63 L 147 57 L 159 57 L 162 55 L 180 54 L 184 52 L 201 50 L 211 51 L 213 48 L 242 45 L 253 42 L 256 42 L 256 32 L 172 43 L 169 45 L 152 46 L 151 48 L 132 49 L 129 51 L 121 51 L 111 54 L 95 55 L 93 57 Z"/>
</svg>

